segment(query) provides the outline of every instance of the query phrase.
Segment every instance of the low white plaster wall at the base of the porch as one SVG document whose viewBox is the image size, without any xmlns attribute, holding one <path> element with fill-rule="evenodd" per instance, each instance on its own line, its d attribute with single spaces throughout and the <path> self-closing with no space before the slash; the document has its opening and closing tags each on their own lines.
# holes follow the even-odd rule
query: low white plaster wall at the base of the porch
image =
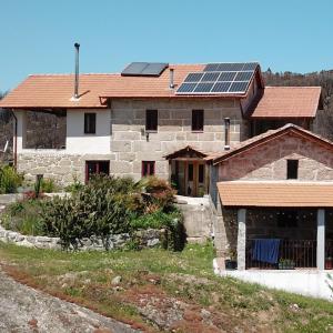
<svg viewBox="0 0 333 333">
<path fill-rule="evenodd" d="M 304 296 L 333 301 L 333 292 L 329 286 L 333 286 L 333 282 L 327 276 L 327 274 L 330 274 L 333 278 L 333 271 L 223 271 L 218 268 L 216 260 L 214 260 L 214 271 L 220 276 L 232 276 L 244 282 L 259 283 L 268 287 L 283 290 Z"/>
</svg>

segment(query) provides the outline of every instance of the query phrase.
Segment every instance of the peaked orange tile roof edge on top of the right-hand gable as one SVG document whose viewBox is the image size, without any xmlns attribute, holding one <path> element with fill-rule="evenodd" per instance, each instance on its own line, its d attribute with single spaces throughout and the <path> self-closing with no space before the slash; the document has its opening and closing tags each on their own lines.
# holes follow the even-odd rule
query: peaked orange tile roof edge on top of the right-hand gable
<svg viewBox="0 0 333 333">
<path fill-rule="evenodd" d="M 230 159 L 234 155 L 246 152 L 248 150 L 254 149 L 255 147 L 266 143 L 268 141 L 270 141 L 272 139 L 280 138 L 280 137 L 286 135 L 286 134 L 301 137 L 305 140 L 312 140 L 319 144 L 325 145 L 326 148 L 333 150 L 332 141 L 330 141 L 325 138 L 322 138 L 321 135 L 314 134 L 313 132 L 304 130 L 303 128 L 297 127 L 293 123 L 287 123 L 278 130 L 269 130 L 260 135 L 256 135 L 256 137 L 253 137 L 245 141 L 242 141 L 230 150 L 225 150 L 223 152 L 213 152 L 210 155 L 208 155 L 206 158 L 204 158 L 204 160 L 211 161 L 214 165 L 216 165 L 226 159 Z"/>
</svg>

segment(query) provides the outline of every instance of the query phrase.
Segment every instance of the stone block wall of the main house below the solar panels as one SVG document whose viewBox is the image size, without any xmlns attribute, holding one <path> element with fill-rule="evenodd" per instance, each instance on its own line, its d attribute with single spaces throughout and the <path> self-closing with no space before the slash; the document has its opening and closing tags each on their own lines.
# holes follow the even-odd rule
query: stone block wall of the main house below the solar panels
<svg viewBox="0 0 333 333">
<path fill-rule="evenodd" d="M 158 132 L 147 139 L 145 110 L 159 112 Z M 204 131 L 191 131 L 192 110 L 204 110 Z M 231 119 L 231 145 L 246 139 L 248 127 L 235 100 L 117 100 L 111 105 L 111 172 L 141 178 L 141 162 L 157 161 L 155 173 L 168 179 L 165 154 L 192 145 L 202 151 L 223 151 L 224 118 Z"/>
</svg>

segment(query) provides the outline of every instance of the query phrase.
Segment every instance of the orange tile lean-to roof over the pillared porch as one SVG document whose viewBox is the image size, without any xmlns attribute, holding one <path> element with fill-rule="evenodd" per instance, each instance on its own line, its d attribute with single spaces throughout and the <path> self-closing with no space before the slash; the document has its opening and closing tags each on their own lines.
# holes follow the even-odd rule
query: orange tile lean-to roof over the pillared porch
<svg viewBox="0 0 333 333">
<path fill-rule="evenodd" d="M 218 183 L 224 206 L 333 208 L 333 182 L 241 182 Z"/>
</svg>

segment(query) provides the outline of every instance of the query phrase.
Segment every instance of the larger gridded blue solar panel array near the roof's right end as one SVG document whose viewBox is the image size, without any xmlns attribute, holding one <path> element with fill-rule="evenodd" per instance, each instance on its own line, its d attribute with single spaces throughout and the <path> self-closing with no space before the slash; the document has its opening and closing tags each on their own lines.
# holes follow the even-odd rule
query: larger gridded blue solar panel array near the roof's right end
<svg viewBox="0 0 333 333">
<path fill-rule="evenodd" d="M 176 94 L 245 93 L 256 62 L 209 63 L 202 72 L 189 73 Z"/>
</svg>

